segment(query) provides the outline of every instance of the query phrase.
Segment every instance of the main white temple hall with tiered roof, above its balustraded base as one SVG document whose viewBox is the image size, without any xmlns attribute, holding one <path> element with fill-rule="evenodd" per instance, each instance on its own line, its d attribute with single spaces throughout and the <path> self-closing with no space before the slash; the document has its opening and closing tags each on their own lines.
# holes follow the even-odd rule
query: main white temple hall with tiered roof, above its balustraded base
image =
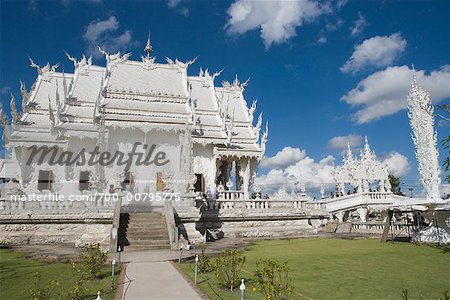
<svg viewBox="0 0 450 300">
<path fill-rule="evenodd" d="M 236 77 L 217 87 L 214 81 L 220 72 L 211 75 L 201 69 L 198 76 L 188 76 L 194 60 L 167 58 L 167 63 L 157 63 L 150 40 L 141 61 L 131 60 L 130 54 L 99 50 L 106 67 L 67 54 L 73 74 L 57 72 L 57 65 L 39 67 L 30 59 L 38 77 L 29 92 L 22 84 L 23 112 L 17 111 L 12 97 L 11 129 L 3 118 L 4 141 L 17 162 L 9 171 L 16 172 L 23 192 L 113 189 L 186 194 L 195 188 L 215 198 L 220 187 L 234 188 L 238 196 L 248 198 L 264 156 L 267 128 L 260 139 L 262 116 L 254 121 L 256 101 L 247 106 L 243 94 L 247 82 Z M 127 154 L 135 143 L 141 143 L 136 150 L 142 152 L 148 151 L 145 145 L 155 144 L 169 163 L 55 166 L 48 161 L 38 164 L 39 157 L 26 163 L 32 146 L 56 146 L 58 155 L 96 147 L 100 153 Z"/>
</svg>

